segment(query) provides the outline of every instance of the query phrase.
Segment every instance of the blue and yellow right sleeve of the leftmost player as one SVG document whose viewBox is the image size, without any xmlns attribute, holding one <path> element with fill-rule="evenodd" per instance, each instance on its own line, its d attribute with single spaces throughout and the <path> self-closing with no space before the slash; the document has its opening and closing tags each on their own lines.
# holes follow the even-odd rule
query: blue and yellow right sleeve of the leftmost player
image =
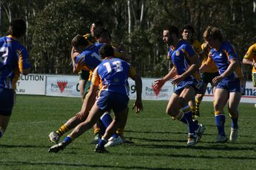
<svg viewBox="0 0 256 170">
<path fill-rule="evenodd" d="M 24 71 L 27 68 L 30 68 L 30 60 L 29 56 L 27 54 L 27 49 L 24 47 L 21 47 L 21 49 L 18 49 L 17 51 L 18 54 L 18 69 L 19 71 Z"/>
</svg>

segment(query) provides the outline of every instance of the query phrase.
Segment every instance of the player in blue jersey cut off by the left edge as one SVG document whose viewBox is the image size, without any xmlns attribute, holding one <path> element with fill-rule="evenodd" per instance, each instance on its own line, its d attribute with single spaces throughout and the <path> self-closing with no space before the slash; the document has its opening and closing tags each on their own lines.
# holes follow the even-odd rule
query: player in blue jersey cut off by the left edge
<svg viewBox="0 0 256 170">
<path fill-rule="evenodd" d="M 10 22 L 8 35 L 0 38 L 0 138 L 13 110 L 18 77 L 30 73 L 27 49 L 18 41 L 25 32 L 25 21 L 16 19 Z"/>
</svg>

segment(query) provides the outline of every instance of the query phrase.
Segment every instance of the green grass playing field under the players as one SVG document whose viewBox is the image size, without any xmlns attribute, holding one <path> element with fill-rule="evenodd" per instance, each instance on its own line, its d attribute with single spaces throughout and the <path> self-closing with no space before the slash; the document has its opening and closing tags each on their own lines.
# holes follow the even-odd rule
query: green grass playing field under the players
<svg viewBox="0 0 256 170">
<path fill-rule="evenodd" d="M 79 98 L 17 96 L 4 138 L 0 169 L 256 169 L 256 109 L 240 104 L 240 131 L 234 144 L 215 144 L 212 102 L 201 104 L 202 140 L 186 147 L 186 127 L 165 114 L 167 101 L 144 101 L 143 113 L 129 110 L 125 136 L 135 142 L 94 153 L 92 130 L 62 151 L 48 153 L 47 135 L 81 107 Z M 129 105 L 132 105 L 130 101 Z M 131 108 L 131 107 L 130 107 Z M 227 114 L 226 114 L 227 116 Z M 226 117 L 226 135 L 231 121 Z"/>
</svg>

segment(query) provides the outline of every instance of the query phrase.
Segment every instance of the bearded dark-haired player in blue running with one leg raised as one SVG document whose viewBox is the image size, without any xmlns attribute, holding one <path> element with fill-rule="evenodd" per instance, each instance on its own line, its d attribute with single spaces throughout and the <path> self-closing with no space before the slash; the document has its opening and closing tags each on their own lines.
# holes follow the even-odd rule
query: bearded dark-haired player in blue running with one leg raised
<svg viewBox="0 0 256 170">
<path fill-rule="evenodd" d="M 192 111 L 188 105 L 196 93 L 201 92 L 202 81 L 198 71 L 200 60 L 192 46 L 185 40 L 179 39 L 177 27 L 169 26 L 164 29 L 163 40 L 170 46 L 169 56 L 174 67 L 162 79 L 155 81 L 154 90 L 160 91 L 166 81 L 172 79 L 177 85 L 166 107 L 166 113 L 172 118 L 182 121 L 189 128 L 187 146 L 193 146 L 201 138 L 205 128 L 192 120 Z"/>
</svg>

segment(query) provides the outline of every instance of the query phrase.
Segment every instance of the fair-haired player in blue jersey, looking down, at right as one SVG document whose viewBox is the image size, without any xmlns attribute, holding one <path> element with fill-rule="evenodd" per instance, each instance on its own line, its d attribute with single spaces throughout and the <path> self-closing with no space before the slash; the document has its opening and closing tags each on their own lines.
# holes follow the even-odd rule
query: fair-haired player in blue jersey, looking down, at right
<svg viewBox="0 0 256 170">
<path fill-rule="evenodd" d="M 243 71 L 240 68 L 238 54 L 233 46 L 223 40 L 220 29 L 208 26 L 203 33 L 206 43 L 212 48 L 206 63 L 201 66 L 201 71 L 207 71 L 207 65 L 214 62 L 219 71 L 219 76 L 212 79 L 216 85 L 214 97 L 215 124 L 218 127 L 217 143 L 228 140 L 224 131 L 225 115 L 224 106 L 228 103 L 229 116 L 232 120 L 230 141 L 236 141 L 238 137 L 238 105 L 244 90 Z"/>
</svg>

